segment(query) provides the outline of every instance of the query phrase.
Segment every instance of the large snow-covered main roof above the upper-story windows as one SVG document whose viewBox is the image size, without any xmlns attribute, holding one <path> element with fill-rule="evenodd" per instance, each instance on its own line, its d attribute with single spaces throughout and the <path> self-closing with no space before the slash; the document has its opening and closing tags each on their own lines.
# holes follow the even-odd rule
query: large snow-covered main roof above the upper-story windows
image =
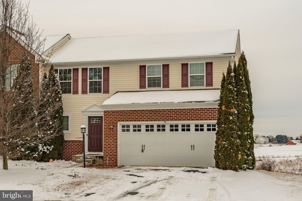
<svg viewBox="0 0 302 201">
<path fill-rule="evenodd" d="M 51 63 L 234 54 L 239 30 L 71 38 Z"/>
</svg>

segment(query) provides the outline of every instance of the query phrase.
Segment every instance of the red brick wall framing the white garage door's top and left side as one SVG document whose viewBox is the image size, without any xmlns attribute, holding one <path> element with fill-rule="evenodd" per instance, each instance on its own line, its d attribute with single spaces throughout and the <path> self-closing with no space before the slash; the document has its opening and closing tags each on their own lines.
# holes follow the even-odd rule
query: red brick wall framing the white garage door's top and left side
<svg viewBox="0 0 302 201">
<path fill-rule="evenodd" d="M 117 122 L 217 120 L 218 108 L 104 111 L 104 164 L 117 166 Z M 110 125 L 114 125 L 111 130 Z"/>
</svg>

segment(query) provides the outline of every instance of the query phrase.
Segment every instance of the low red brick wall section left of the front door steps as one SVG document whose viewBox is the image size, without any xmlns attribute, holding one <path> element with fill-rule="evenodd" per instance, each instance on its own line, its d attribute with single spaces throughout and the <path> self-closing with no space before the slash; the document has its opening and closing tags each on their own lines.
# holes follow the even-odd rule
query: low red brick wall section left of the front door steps
<svg viewBox="0 0 302 201">
<path fill-rule="evenodd" d="M 65 140 L 63 147 L 63 160 L 71 161 L 72 156 L 83 154 L 82 140 Z"/>
</svg>

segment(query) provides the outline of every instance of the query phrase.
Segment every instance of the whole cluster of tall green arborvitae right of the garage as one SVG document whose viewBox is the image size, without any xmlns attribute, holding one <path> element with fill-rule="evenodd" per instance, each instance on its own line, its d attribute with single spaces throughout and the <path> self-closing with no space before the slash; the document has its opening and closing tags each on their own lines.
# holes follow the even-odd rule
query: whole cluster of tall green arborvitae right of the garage
<svg viewBox="0 0 302 201">
<path fill-rule="evenodd" d="M 233 72 L 233 73 L 232 73 Z M 218 104 L 215 166 L 223 170 L 254 169 L 252 92 L 242 52 L 233 70 L 229 61 L 222 77 Z"/>
</svg>

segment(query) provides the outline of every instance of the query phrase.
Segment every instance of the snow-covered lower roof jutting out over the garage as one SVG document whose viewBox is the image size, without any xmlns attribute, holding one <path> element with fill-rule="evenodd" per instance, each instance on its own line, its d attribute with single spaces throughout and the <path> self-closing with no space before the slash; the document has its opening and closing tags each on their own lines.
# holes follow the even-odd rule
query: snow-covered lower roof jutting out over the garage
<svg viewBox="0 0 302 201">
<path fill-rule="evenodd" d="M 220 90 L 162 90 L 143 92 L 117 92 L 102 105 L 140 103 L 217 102 Z"/>
</svg>

